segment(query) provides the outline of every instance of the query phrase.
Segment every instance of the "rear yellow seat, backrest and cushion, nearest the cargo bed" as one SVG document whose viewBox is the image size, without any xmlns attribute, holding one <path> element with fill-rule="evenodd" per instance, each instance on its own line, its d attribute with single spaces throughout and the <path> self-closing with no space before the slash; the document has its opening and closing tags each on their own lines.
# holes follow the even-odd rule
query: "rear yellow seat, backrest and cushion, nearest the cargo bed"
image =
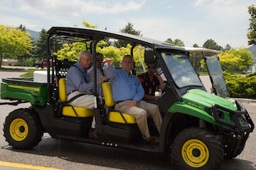
<svg viewBox="0 0 256 170">
<path fill-rule="evenodd" d="M 59 79 L 59 99 L 61 102 L 66 102 L 66 79 Z M 75 112 L 74 112 L 75 110 Z M 72 107 L 72 106 L 64 106 L 62 110 L 63 116 L 69 117 L 78 117 L 78 118 L 86 118 L 90 116 L 94 116 L 93 110 L 88 110 L 86 108 Z"/>
</svg>

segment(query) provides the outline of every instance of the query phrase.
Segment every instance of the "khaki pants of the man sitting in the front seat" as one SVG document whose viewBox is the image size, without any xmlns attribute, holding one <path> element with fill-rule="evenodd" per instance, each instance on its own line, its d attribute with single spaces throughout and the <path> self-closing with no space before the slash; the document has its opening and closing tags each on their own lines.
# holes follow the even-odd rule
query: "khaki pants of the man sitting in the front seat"
<svg viewBox="0 0 256 170">
<path fill-rule="evenodd" d="M 150 130 L 148 129 L 148 118 L 152 118 L 154 120 L 154 124 L 156 125 L 156 128 L 160 133 L 162 117 L 160 115 L 160 111 L 158 110 L 158 106 L 152 103 L 147 103 L 146 101 L 139 101 L 135 106 L 127 110 L 126 105 L 130 101 L 131 100 L 126 100 L 117 103 L 117 105 L 115 105 L 115 110 L 119 110 L 123 114 L 129 114 L 136 119 L 143 139 L 148 140 L 150 138 Z"/>
</svg>

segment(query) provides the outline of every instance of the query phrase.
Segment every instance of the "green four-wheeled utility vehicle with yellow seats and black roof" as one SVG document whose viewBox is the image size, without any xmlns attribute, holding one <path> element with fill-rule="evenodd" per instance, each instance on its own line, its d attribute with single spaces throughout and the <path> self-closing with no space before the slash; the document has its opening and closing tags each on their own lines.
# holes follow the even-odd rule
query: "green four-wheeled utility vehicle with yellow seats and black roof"
<svg viewBox="0 0 256 170">
<path fill-rule="evenodd" d="M 53 138 L 99 144 L 113 149 L 128 148 L 172 155 L 181 169 L 218 169 L 224 158 L 239 155 L 254 124 L 239 100 L 232 102 L 207 93 L 189 61 L 189 51 L 156 40 L 131 34 L 115 33 L 93 28 L 53 27 L 48 32 L 48 80 L 36 83 L 32 79 L 3 79 L 1 99 L 30 102 L 31 107 L 14 110 L 7 116 L 4 136 L 11 146 L 32 148 L 40 142 L 44 132 Z M 141 138 L 135 118 L 113 110 L 111 83 L 103 83 L 104 100 L 96 88 L 94 67 L 94 110 L 69 105 L 65 93 L 65 75 L 75 62 L 55 55 L 58 44 L 79 42 L 88 50 L 96 65 L 96 48 L 101 40 L 123 40 L 131 44 L 131 56 L 137 46 L 145 48 L 144 60 L 159 65 L 166 77 L 165 89 L 158 99 L 163 116 L 159 144 Z M 76 44 L 77 46 L 77 44 Z M 133 68 L 133 74 L 136 73 Z M 120 94 L 122 95 L 122 94 Z M 4 103 L 2 103 L 4 104 Z M 106 112 L 105 108 L 108 108 Z M 96 118 L 98 139 L 88 131 Z M 154 132 L 152 128 L 151 133 Z"/>
</svg>

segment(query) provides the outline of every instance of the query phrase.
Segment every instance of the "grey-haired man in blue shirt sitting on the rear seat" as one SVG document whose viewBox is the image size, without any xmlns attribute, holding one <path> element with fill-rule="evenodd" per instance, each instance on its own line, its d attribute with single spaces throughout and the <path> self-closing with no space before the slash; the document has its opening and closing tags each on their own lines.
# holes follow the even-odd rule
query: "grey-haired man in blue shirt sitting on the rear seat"
<svg viewBox="0 0 256 170">
<path fill-rule="evenodd" d="M 94 83 L 88 81 L 87 69 L 91 65 L 92 55 L 87 51 L 82 51 L 79 53 L 79 60 L 70 67 L 67 71 L 66 76 L 66 93 L 67 101 L 79 94 L 84 94 L 77 97 L 69 104 L 75 107 L 86 108 L 92 110 L 94 108 L 94 95 L 92 95 L 91 90 L 94 87 Z M 107 77 L 102 77 L 97 85 L 106 81 Z M 89 131 L 89 135 L 93 138 L 97 138 L 95 132 L 95 118 L 92 121 L 92 129 Z"/>
</svg>

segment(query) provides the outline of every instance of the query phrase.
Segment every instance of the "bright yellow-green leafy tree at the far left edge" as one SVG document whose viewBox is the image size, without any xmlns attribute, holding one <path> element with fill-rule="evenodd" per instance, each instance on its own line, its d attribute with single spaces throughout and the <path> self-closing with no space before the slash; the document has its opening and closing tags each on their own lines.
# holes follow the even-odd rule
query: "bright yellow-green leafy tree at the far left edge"
<svg viewBox="0 0 256 170">
<path fill-rule="evenodd" d="M 0 26 L 0 67 L 3 58 L 17 58 L 30 54 L 32 42 L 30 34 L 10 26 Z"/>
</svg>

